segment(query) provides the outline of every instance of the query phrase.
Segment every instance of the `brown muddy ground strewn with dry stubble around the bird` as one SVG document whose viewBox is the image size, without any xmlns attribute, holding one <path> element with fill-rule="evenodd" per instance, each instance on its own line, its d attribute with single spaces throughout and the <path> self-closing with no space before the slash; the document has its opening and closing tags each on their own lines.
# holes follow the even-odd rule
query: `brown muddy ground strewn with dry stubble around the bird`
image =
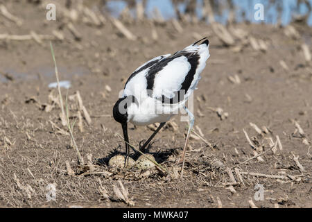
<svg viewBox="0 0 312 222">
<path fill-rule="evenodd" d="M 278 26 L 233 24 L 248 36 L 225 46 L 211 25 L 202 22 L 181 22 L 179 33 L 171 22 L 123 21 L 137 36 L 128 40 L 110 19 L 101 26 L 78 19 L 71 21 L 81 35 L 78 41 L 67 29 L 70 19 L 46 21 L 46 10 L 40 4 L 1 2 L 23 24 L 1 17 L 0 33 L 51 35 L 57 30 L 64 35 L 64 40 L 52 41 L 60 80 L 71 81 L 69 96 L 80 92 L 92 120 L 87 124 L 83 119 L 83 132 L 76 123 L 73 135 L 85 162 L 92 154 L 95 165 L 93 174 L 87 167 L 78 168 L 71 138 L 59 118 L 60 106 L 53 105 L 58 99 L 52 97 L 58 94 L 48 87 L 55 82 L 49 40 L 0 40 L 1 207 L 129 207 L 114 194 L 118 180 L 128 189 L 134 207 L 250 207 L 250 200 L 257 207 L 312 207 L 312 67 L 302 51 L 302 44 L 311 51 L 311 27 L 293 24 L 299 32 L 296 38 Z M 153 29 L 157 39 L 152 38 Z M 194 114 L 196 126 L 213 147 L 204 139 L 192 139 L 184 177 L 179 180 L 180 167 L 175 162 L 182 153 L 187 123 L 176 116 L 177 128 L 174 123 L 164 128 L 151 148 L 168 176 L 157 169 L 107 167 L 112 153 L 124 152 L 117 135 L 122 135 L 121 126 L 112 118 L 112 106 L 125 80 L 150 58 L 174 53 L 206 35 L 211 57 L 194 94 Z M 263 40 L 267 49 L 254 49 L 249 37 Z M 62 88 L 63 99 L 66 92 Z M 217 108 L 228 116 L 221 118 Z M 77 111 L 76 101 L 69 100 L 71 122 Z M 268 131 L 258 134 L 250 123 L 261 130 L 266 126 Z M 130 125 L 131 144 L 138 146 L 147 139 L 151 128 Z M 254 151 L 243 129 L 258 153 L 266 151 L 262 160 L 248 160 Z M 277 146 L 272 153 L 268 138 L 274 144 L 277 136 L 282 149 Z M 299 164 L 294 156 L 299 157 Z M 236 171 L 245 174 L 235 173 L 236 164 Z M 227 173 L 231 167 L 234 178 Z M 56 187 L 56 199 L 51 201 L 46 199 L 51 194 L 49 184 Z M 263 200 L 254 199 L 257 184 L 263 186 Z"/>
</svg>

